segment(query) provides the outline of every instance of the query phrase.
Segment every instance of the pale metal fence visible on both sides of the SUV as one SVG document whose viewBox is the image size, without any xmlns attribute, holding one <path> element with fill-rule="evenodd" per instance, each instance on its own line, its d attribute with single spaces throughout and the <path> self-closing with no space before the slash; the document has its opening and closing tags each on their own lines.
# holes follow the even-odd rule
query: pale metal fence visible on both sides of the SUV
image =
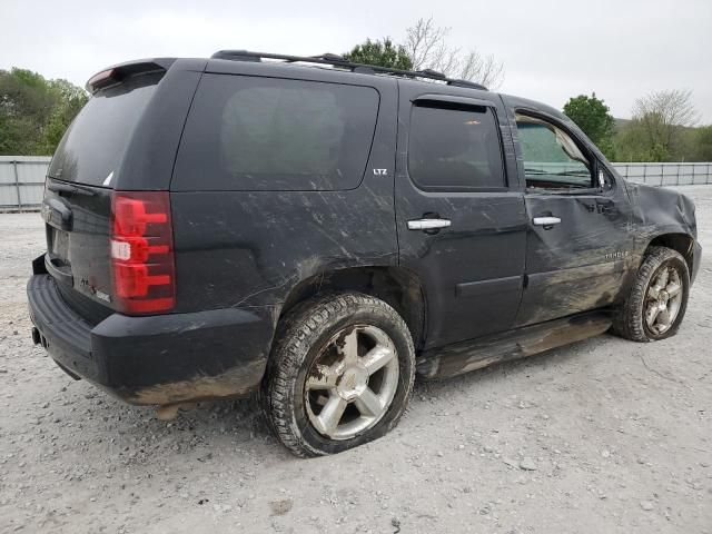
<svg viewBox="0 0 712 534">
<path fill-rule="evenodd" d="M 36 209 L 42 202 L 50 157 L 0 156 L 0 209 Z M 621 176 L 652 186 L 712 184 L 712 162 L 613 164 Z"/>
</svg>

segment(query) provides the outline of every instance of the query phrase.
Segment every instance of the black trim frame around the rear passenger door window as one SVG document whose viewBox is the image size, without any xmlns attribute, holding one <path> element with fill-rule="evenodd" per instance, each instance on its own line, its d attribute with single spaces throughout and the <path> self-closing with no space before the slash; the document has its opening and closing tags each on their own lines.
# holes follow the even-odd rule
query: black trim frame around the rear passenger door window
<svg viewBox="0 0 712 534">
<path fill-rule="evenodd" d="M 406 172 L 408 175 L 408 179 L 413 186 L 425 192 L 453 192 L 453 194 L 477 194 L 477 192 L 501 192 L 511 190 L 511 180 L 507 174 L 507 165 L 504 152 L 504 140 L 502 137 L 502 126 L 500 125 L 500 117 L 497 116 L 497 107 L 496 103 L 490 100 L 482 100 L 478 98 L 468 98 L 468 97 L 459 97 L 456 95 L 437 95 L 437 93 L 426 93 L 419 95 L 411 100 L 411 109 L 408 111 L 408 138 L 407 138 L 407 148 L 406 148 Z M 431 102 L 431 106 L 423 106 L 425 102 Z M 419 106 L 419 105 L 421 106 Z M 413 123 L 413 110 L 415 108 L 428 107 L 433 109 L 448 109 L 446 106 L 456 105 L 462 106 L 463 108 L 486 108 L 486 111 L 492 112 L 492 117 L 494 119 L 495 129 L 497 131 L 497 141 L 500 144 L 500 156 L 502 161 L 502 177 L 504 184 L 501 187 L 452 187 L 452 186 L 431 186 L 425 187 L 422 184 L 418 184 L 413 179 L 411 175 L 411 132 L 412 132 L 412 123 Z M 486 112 L 485 111 L 485 112 Z"/>
</svg>

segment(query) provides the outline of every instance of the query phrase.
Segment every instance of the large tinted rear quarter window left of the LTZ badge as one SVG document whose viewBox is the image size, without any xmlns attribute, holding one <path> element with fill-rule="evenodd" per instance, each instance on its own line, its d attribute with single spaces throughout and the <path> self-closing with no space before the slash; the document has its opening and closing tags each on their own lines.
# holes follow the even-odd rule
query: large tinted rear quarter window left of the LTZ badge
<svg viewBox="0 0 712 534">
<path fill-rule="evenodd" d="M 334 190 L 360 182 L 378 115 L 368 87 L 206 75 L 174 189 Z"/>
</svg>

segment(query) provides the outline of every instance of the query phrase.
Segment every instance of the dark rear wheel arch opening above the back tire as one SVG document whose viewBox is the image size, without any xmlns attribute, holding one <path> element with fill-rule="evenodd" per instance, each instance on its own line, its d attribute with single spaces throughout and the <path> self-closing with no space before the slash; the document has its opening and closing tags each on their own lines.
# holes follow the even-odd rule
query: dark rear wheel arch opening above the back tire
<svg viewBox="0 0 712 534">
<path fill-rule="evenodd" d="M 325 291 L 358 291 L 380 298 L 405 320 L 418 350 L 426 328 L 425 289 L 415 273 L 398 266 L 359 266 L 317 273 L 291 288 L 279 320 L 297 304 Z"/>
</svg>

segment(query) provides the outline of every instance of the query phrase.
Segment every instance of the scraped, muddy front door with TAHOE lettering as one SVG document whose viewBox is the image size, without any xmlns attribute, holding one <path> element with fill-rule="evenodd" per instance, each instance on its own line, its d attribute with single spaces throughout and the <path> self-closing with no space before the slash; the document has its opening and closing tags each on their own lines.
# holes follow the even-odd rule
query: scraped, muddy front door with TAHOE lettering
<svg viewBox="0 0 712 534">
<path fill-rule="evenodd" d="M 514 128 L 528 214 L 516 326 L 612 304 L 633 261 L 624 185 L 561 119 L 518 111 Z"/>
</svg>

